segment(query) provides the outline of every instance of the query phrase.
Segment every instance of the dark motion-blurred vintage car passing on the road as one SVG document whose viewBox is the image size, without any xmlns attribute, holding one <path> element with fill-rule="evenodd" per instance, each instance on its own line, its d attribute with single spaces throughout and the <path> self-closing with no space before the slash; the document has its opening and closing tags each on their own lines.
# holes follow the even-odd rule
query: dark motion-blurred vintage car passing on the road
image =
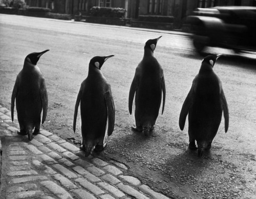
<svg viewBox="0 0 256 199">
<path fill-rule="evenodd" d="M 205 47 L 256 51 L 256 7 L 197 8 L 187 22 L 199 53 Z"/>
</svg>

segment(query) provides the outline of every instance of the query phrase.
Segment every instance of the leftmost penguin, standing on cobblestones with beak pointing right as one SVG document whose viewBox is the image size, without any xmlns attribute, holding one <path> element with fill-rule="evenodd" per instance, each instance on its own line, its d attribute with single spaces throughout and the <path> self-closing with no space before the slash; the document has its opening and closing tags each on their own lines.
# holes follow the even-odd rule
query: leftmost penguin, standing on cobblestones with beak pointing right
<svg viewBox="0 0 256 199">
<path fill-rule="evenodd" d="M 13 121 L 14 103 L 20 131 L 19 135 L 28 135 L 32 140 L 33 135 L 39 134 L 41 124 L 44 124 L 48 109 L 48 95 L 45 78 L 38 68 L 37 61 L 48 52 L 31 53 L 26 56 L 23 69 L 17 75 L 11 97 L 11 118 Z M 33 131 L 34 129 L 34 131 Z"/>
</svg>

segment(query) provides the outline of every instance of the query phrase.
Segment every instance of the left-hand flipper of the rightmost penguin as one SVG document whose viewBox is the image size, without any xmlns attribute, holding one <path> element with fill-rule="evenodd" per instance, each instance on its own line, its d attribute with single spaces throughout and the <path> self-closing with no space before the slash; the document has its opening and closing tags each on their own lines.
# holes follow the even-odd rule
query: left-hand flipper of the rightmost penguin
<svg viewBox="0 0 256 199">
<path fill-rule="evenodd" d="M 184 129 L 188 111 L 190 109 L 190 106 L 193 104 L 194 87 L 195 87 L 195 80 L 193 81 L 191 89 L 190 89 L 189 93 L 187 94 L 187 97 L 186 97 L 186 99 L 185 99 L 185 101 L 184 101 L 184 103 L 182 105 L 182 108 L 181 108 L 180 118 L 179 118 L 179 126 L 180 126 L 181 130 Z"/>
</svg>

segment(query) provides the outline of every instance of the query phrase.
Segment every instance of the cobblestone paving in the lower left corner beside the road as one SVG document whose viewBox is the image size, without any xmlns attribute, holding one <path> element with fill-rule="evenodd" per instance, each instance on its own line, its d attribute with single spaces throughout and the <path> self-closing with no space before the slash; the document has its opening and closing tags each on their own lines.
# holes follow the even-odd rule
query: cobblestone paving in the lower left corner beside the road
<svg viewBox="0 0 256 199">
<path fill-rule="evenodd" d="M 43 129 L 29 141 L 18 129 L 0 105 L 0 198 L 168 198 L 126 175 L 124 164 L 85 158 L 75 145 Z"/>
</svg>

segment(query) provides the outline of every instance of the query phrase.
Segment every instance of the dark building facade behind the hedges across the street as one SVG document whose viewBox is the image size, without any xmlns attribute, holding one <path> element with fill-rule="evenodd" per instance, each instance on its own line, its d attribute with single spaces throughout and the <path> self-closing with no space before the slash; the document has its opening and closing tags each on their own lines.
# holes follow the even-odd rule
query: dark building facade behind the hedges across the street
<svg viewBox="0 0 256 199">
<path fill-rule="evenodd" d="M 175 23 L 190 15 L 196 8 L 213 6 L 256 6 L 256 0 L 26 0 L 30 7 L 50 8 L 66 14 L 87 14 L 93 6 L 119 7 L 126 10 L 126 18 L 139 15 L 174 16 Z"/>
</svg>

